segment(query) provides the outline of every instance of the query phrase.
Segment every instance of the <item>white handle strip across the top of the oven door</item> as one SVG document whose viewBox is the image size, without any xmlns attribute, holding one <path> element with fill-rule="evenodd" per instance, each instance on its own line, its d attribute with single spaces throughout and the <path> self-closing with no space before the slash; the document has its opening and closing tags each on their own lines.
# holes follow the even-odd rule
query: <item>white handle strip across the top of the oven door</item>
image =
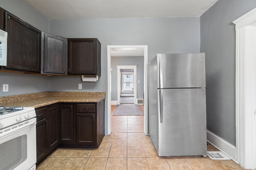
<svg viewBox="0 0 256 170">
<path fill-rule="evenodd" d="M 5 137 L 6 135 L 10 135 L 12 133 L 16 133 L 20 130 L 26 129 L 29 126 L 36 125 L 36 118 L 29 119 L 28 121 L 24 121 L 21 123 L 17 123 L 15 125 L 3 128 L 0 130 L 0 139 Z"/>
</svg>

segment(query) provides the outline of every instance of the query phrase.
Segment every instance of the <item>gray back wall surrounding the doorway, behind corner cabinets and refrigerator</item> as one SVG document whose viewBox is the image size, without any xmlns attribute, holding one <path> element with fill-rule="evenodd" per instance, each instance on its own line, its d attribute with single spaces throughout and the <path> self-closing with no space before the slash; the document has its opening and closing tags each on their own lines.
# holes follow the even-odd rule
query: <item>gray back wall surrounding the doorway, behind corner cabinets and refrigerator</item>
<svg viewBox="0 0 256 170">
<path fill-rule="evenodd" d="M 200 52 L 199 17 L 50 20 L 50 33 L 67 38 L 98 38 L 102 70 L 98 82 L 82 82 L 80 76 L 51 77 L 50 91 L 78 91 L 78 83 L 82 83 L 84 91 L 107 92 L 107 45 L 148 45 L 148 61 L 157 53 Z M 107 101 L 105 106 L 107 117 Z"/>
</svg>

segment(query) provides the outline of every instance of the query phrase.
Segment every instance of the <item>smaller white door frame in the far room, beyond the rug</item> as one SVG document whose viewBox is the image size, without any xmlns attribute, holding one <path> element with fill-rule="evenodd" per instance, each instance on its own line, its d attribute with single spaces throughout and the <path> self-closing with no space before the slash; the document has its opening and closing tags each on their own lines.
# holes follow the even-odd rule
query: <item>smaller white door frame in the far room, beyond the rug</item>
<svg viewBox="0 0 256 170">
<path fill-rule="evenodd" d="M 120 69 L 125 69 L 125 68 L 132 68 L 134 69 L 134 104 L 137 104 L 137 65 L 127 65 L 127 66 L 117 66 L 117 102 L 120 102 L 120 95 L 121 95 L 121 74 L 120 74 Z"/>
</svg>

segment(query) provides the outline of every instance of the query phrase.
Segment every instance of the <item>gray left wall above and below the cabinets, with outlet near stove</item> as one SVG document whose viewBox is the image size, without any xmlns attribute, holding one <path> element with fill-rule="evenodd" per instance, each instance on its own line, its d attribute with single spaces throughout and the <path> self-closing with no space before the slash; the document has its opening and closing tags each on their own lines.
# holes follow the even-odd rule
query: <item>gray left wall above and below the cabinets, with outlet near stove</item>
<svg viewBox="0 0 256 170">
<path fill-rule="evenodd" d="M 0 7 L 42 31 L 49 31 L 49 20 L 24 0 L 1 0 Z M 9 84 L 9 92 L 2 92 L 2 84 Z M 28 74 L 0 72 L 0 96 L 47 92 L 49 78 Z"/>
</svg>

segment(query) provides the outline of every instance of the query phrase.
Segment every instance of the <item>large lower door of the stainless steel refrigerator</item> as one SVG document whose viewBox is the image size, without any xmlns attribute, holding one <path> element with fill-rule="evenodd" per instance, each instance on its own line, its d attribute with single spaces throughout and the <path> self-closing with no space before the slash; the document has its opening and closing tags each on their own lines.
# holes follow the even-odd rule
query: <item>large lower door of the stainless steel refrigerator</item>
<svg viewBox="0 0 256 170">
<path fill-rule="evenodd" d="M 206 92 L 158 89 L 158 155 L 206 155 Z"/>
</svg>

